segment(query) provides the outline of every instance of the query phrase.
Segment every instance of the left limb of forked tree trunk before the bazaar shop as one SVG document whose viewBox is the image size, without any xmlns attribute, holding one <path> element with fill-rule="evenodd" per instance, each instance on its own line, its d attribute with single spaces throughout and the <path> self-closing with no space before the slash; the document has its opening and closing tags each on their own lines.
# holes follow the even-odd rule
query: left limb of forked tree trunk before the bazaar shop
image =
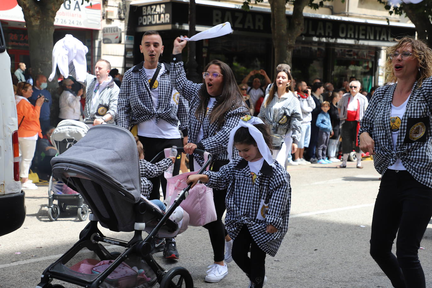
<svg viewBox="0 0 432 288">
<path fill-rule="evenodd" d="M 285 0 L 269 0 L 271 9 L 271 34 L 274 47 L 274 66 L 287 63 L 286 43 L 288 41 Z"/>
</svg>

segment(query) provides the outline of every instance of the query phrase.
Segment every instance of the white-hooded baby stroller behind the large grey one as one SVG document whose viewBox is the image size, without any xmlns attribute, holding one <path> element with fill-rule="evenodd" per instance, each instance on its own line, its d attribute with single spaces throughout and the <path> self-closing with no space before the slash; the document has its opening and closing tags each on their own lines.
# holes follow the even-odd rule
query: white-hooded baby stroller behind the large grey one
<svg viewBox="0 0 432 288">
<path fill-rule="evenodd" d="M 51 134 L 51 143 L 58 154 L 61 154 L 83 138 L 87 130 L 89 127 L 83 122 L 62 120 Z M 57 200 L 58 204 L 54 204 L 54 200 Z M 48 218 L 50 221 L 57 220 L 60 212 L 66 212 L 67 207 L 70 206 L 78 207 L 77 215 L 80 221 L 87 219 L 89 206 L 84 203 L 83 197 L 51 174 L 48 185 Z"/>
</svg>

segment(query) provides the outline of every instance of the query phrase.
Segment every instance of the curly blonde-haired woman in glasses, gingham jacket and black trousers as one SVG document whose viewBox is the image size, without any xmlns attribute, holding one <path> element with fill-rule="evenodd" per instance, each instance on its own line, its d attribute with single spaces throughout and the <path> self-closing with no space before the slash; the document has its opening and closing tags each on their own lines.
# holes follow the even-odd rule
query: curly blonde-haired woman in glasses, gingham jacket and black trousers
<svg viewBox="0 0 432 288">
<path fill-rule="evenodd" d="M 370 253 L 393 287 L 425 288 L 418 250 L 432 216 L 432 50 L 403 37 L 387 52 L 387 85 L 376 89 L 359 131 L 382 174 Z"/>
</svg>

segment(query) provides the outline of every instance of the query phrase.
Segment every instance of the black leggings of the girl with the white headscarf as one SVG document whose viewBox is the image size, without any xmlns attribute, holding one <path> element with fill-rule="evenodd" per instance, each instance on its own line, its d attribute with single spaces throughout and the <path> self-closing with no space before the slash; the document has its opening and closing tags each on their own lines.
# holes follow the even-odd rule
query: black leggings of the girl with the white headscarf
<svg viewBox="0 0 432 288">
<path fill-rule="evenodd" d="M 248 257 L 249 247 L 251 258 Z M 251 280 L 252 287 L 262 288 L 266 274 L 265 260 L 266 253 L 252 239 L 248 227 L 243 225 L 232 243 L 232 259 Z"/>
</svg>

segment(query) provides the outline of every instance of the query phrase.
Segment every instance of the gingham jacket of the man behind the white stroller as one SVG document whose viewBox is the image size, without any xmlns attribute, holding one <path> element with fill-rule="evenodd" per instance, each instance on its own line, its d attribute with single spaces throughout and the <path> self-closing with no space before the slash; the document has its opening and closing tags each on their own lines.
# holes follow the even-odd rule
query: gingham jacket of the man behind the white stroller
<svg viewBox="0 0 432 288">
<path fill-rule="evenodd" d="M 76 71 L 73 63 L 69 64 L 69 73 L 73 78 L 76 79 Z M 102 118 L 103 116 L 96 115 L 99 104 L 103 104 L 108 107 L 108 111 L 105 114 L 111 114 L 112 119 L 107 121 L 107 123 L 113 124 L 117 120 L 117 100 L 118 93 L 120 89 L 115 84 L 114 79 L 111 79 L 111 82 L 99 93 L 99 98 L 92 108 L 92 98 L 93 98 L 93 90 L 95 89 L 95 85 L 97 83 L 96 76 L 87 73 L 86 80 L 84 82 L 79 82 L 86 86 L 86 104 L 84 106 L 84 121 L 93 121 L 97 118 Z"/>
</svg>

